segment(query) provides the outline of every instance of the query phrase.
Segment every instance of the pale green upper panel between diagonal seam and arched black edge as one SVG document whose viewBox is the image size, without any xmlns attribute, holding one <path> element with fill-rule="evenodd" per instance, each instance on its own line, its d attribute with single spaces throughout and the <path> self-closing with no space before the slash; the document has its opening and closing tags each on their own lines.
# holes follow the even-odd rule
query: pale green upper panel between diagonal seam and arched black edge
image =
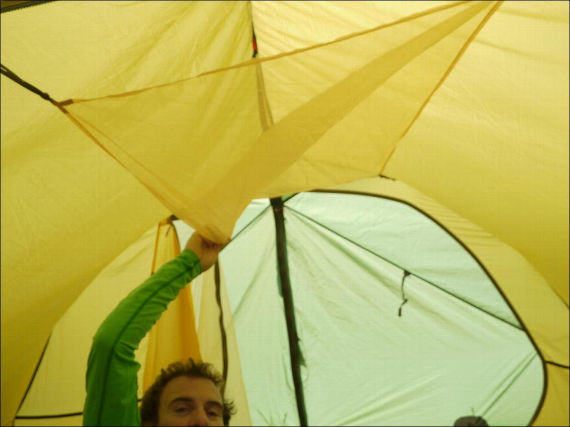
<svg viewBox="0 0 570 427">
<path fill-rule="evenodd" d="M 422 227 L 425 218 L 410 214 L 409 206 L 352 195 L 315 194 L 305 199 L 306 195 L 299 196 L 287 207 L 414 276 L 520 326 L 488 276 L 473 258 L 466 256 L 465 249 L 441 228 Z M 355 227 L 356 219 L 362 223 L 360 227 Z M 453 268 L 442 269 L 438 267 L 441 265 Z"/>
</svg>

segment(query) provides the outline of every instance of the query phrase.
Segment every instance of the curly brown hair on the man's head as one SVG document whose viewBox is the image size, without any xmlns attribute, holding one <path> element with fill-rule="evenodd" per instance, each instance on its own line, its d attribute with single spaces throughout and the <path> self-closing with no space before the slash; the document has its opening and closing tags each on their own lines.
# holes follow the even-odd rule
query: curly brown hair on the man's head
<svg viewBox="0 0 570 427">
<path fill-rule="evenodd" d="M 226 400 L 223 396 L 225 384 L 223 383 L 222 376 L 219 375 L 211 363 L 194 362 L 193 359 L 188 359 L 188 362 L 174 362 L 171 363 L 168 368 L 161 369 L 154 384 L 144 393 L 143 400 L 141 401 L 140 412 L 143 425 L 158 424 L 158 405 L 160 404 L 162 391 L 170 380 L 179 376 L 206 378 L 212 381 L 222 395 L 223 425 L 230 425 L 230 418 L 235 414 L 235 407 L 233 401 Z"/>
</svg>

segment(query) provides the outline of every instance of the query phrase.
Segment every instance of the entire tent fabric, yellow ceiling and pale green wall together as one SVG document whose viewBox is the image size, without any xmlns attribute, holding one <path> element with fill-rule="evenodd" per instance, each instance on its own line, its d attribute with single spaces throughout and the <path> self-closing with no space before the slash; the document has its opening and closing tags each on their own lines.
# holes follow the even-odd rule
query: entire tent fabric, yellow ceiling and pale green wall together
<svg viewBox="0 0 570 427">
<path fill-rule="evenodd" d="M 3 67 L 69 101 L 0 79 L 2 425 L 80 422 L 171 213 L 234 237 L 234 422 L 298 424 L 286 194 L 310 424 L 568 424 L 568 2 L 11 3 Z"/>
</svg>

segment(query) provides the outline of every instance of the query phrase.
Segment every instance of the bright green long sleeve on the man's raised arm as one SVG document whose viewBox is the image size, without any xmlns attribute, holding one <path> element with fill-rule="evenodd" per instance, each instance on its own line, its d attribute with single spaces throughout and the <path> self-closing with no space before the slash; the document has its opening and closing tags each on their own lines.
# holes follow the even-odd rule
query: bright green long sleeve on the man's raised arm
<svg viewBox="0 0 570 427">
<path fill-rule="evenodd" d="M 141 425 L 135 350 L 168 303 L 200 273 L 200 260 L 185 250 L 133 290 L 101 324 L 87 364 L 83 425 Z"/>
</svg>

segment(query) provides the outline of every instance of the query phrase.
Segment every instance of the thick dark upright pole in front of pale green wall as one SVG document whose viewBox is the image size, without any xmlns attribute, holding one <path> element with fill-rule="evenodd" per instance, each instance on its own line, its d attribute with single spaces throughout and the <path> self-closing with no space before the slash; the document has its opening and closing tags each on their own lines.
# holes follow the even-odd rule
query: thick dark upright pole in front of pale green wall
<svg viewBox="0 0 570 427">
<path fill-rule="evenodd" d="M 285 234 L 285 220 L 283 215 L 283 200 L 280 197 L 271 199 L 271 207 L 275 217 L 275 240 L 277 245 L 277 264 L 279 268 L 279 283 L 283 295 L 283 306 L 285 309 L 285 321 L 287 323 L 287 337 L 289 339 L 289 354 L 291 356 L 291 373 L 295 386 L 295 398 L 297 410 L 299 412 L 300 425 L 308 426 L 307 410 L 305 409 L 305 399 L 303 396 L 303 382 L 301 380 L 301 349 L 299 347 L 299 336 L 295 323 L 295 306 L 293 304 L 293 292 L 289 280 L 289 265 L 287 262 L 287 237 Z"/>
</svg>

